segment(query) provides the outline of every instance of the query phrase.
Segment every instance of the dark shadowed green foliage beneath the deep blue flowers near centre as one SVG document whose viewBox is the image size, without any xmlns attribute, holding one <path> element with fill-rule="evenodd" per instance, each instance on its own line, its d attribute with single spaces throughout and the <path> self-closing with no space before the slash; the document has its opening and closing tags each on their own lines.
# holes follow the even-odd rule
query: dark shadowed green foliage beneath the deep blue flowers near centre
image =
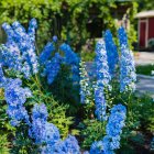
<svg viewBox="0 0 154 154">
<path fill-rule="evenodd" d="M 48 87 L 48 90 L 61 103 L 69 105 L 70 114 L 76 113 L 79 102 L 79 86 L 78 82 L 73 82 L 70 67 L 61 67 L 61 72 L 54 82 Z"/>
</svg>

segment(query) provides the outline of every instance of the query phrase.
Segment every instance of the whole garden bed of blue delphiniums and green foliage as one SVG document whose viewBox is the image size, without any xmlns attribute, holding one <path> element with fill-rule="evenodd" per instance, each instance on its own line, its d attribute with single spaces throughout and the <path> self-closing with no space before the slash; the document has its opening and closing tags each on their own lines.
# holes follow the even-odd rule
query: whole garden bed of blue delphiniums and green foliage
<svg viewBox="0 0 154 154">
<path fill-rule="evenodd" d="M 135 66 L 124 28 L 96 44 L 92 74 L 69 44 L 53 36 L 41 53 L 37 22 L 4 23 L 0 46 L 0 153 L 150 153 L 153 99 L 136 96 Z M 129 59 L 129 61 L 128 61 Z M 92 77 L 91 77 L 92 76 Z"/>
</svg>

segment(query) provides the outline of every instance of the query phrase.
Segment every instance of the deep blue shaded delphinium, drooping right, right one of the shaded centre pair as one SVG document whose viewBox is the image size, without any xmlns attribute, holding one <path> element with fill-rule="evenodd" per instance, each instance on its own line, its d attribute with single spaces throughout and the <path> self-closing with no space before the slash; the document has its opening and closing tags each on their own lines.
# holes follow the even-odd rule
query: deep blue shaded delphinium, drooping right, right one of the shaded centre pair
<svg viewBox="0 0 154 154">
<path fill-rule="evenodd" d="M 72 50 L 72 47 L 66 43 L 63 43 L 59 46 L 59 50 L 65 53 L 64 63 L 72 66 L 73 80 L 78 81 L 79 80 L 79 57 Z"/>
</svg>

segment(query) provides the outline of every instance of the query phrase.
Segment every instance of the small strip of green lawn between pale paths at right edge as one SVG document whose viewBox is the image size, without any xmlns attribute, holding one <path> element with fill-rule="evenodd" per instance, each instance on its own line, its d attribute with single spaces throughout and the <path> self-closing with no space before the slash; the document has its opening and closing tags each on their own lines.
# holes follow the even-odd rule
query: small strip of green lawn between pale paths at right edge
<svg viewBox="0 0 154 154">
<path fill-rule="evenodd" d="M 140 65 L 136 66 L 136 74 L 142 74 L 142 75 L 152 75 L 152 70 L 154 70 L 154 65 Z"/>
</svg>

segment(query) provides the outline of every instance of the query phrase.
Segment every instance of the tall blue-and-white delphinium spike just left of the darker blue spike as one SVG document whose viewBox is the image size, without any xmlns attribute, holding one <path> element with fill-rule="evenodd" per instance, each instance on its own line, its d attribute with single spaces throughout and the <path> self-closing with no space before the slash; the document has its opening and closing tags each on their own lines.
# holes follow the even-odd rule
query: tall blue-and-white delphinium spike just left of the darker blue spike
<svg viewBox="0 0 154 154">
<path fill-rule="evenodd" d="M 107 61 L 107 51 L 105 42 L 101 40 L 96 45 L 96 69 L 97 69 L 97 84 L 95 88 L 95 102 L 96 102 L 96 116 L 100 121 L 107 120 L 106 116 L 106 99 L 103 90 L 110 89 L 109 66 Z"/>
</svg>

